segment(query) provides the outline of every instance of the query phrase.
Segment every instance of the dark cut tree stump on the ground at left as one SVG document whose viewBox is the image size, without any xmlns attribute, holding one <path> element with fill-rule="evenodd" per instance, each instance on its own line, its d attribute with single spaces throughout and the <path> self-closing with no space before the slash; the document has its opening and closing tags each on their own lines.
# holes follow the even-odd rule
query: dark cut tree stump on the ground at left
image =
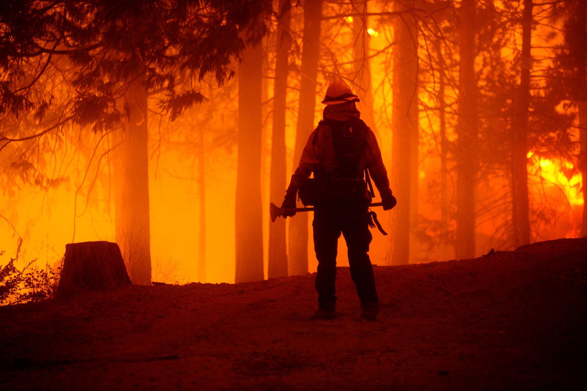
<svg viewBox="0 0 587 391">
<path fill-rule="evenodd" d="M 65 245 L 58 298 L 83 291 L 110 291 L 130 285 L 120 248 L 116 243 L 80 242 Z"/>
</svg>

